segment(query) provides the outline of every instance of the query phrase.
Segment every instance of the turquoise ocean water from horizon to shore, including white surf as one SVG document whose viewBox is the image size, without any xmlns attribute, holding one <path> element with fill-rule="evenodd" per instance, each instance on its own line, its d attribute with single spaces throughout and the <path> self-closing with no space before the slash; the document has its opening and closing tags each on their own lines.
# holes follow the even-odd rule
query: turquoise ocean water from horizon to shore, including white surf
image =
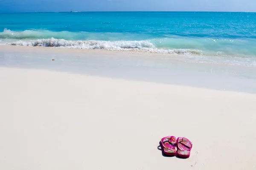
<svg viewBox="0 0 256 170">
<path fill-rule="evenodd" d="M 151 51 L 256 66 L 256 13 L 0 14 L 0 44 Z"/>
</svg>

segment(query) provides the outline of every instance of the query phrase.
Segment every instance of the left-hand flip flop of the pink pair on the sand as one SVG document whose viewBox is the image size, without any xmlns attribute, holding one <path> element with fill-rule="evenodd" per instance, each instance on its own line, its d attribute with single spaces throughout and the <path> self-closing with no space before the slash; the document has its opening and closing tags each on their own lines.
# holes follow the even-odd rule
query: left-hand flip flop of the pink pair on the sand
<svg viewBox="0 0 256 170">
<path fill-rule="evenodd" d="M 176 138 L 175 136 L 166 136 L 161 139 L 163 153 L 167 156 L 175 156 L 177 151 L 176 147 Z"/>
</svg>

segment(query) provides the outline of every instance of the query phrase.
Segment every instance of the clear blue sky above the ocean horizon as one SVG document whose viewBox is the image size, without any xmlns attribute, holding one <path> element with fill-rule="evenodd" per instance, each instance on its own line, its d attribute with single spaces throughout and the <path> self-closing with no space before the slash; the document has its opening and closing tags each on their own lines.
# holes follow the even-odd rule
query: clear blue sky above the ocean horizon
<svg viewBox="0 0 256 170">
<path fill-rule="evenodd" d="M 0 0 L 0 12 L 256 11 L 256 0 Z"/>
</svg>

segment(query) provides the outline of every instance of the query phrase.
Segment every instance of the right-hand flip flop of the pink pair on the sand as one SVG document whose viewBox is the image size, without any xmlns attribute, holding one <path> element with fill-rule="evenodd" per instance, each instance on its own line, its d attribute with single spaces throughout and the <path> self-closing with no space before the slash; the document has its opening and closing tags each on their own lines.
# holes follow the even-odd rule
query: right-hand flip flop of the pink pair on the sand
<svg viewBox="0 0 256 170">
<path fill-rule="evenodd" d="M 189 139 L 178 137 L 177 139 L 177 156 L 181 158 L 189 158 L 192 142 Z"/>
</svg>

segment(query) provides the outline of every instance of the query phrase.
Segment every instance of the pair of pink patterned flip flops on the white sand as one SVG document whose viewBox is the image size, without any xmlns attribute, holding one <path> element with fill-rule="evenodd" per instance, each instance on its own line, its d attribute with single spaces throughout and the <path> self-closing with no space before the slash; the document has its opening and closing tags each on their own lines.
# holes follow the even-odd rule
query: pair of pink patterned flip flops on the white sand
<svg viewBox="0 0 256 170">
<path fill-rule="evenodd" d="M 161 139 L 163 153 L 167 156 L 179 156 L 189 158 L 192 149 L 192 142 L 189 139 L 175 136 L 166 136 Z M 177 150 L 176 148 L 177 147 Z"/>
</svg>

